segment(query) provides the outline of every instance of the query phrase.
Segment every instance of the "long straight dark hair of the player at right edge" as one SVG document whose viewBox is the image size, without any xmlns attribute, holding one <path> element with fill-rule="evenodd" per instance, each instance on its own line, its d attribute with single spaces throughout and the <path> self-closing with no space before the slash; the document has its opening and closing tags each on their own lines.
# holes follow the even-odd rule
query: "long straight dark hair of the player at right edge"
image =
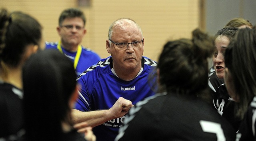
<svg viewBox="0 0 256 141">
<path fill-rule="evenodd" d="M 236 38 L 228 45 L 224 57 L 236 94 L 240 98 L 237 103 L 237 116 L 243 118 L 248 104 L 256 94 L 255 29 L 239 29 Z"/>
</svg>

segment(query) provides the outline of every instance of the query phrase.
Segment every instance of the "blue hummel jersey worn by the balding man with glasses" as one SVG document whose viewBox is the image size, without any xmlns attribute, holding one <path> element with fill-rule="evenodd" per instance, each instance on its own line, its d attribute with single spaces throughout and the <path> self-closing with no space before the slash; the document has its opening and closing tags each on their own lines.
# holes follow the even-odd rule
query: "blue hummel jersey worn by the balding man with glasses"
<svg viewBox="0 0 256 141">
<path fill-rule="evenodd" d="M 136 104 L 154 94 L 148 82 L 155 82 L 156 73 L 152 70 L 156 62 L 142 57 L 142 69 L 138 76 L 130 81 L 125 81 L 116 76 L 112 67 L 112 57 L 100 60 L 78 77 L 81 84 L 79 98 L 75 109 L 80 111 L 110 109 L 121 96 Z M 153 80 L 148 81 L 150 76 Z M 114 141 L 122 126 L 125 116 L 106 121 L 93 128 L 98 141 Z"/>
</svg>

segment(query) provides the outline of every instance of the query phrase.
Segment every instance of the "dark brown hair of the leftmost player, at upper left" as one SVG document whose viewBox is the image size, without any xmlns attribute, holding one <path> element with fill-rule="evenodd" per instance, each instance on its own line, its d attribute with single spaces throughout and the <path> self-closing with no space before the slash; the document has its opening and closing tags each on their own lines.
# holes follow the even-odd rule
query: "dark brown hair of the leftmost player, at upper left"
<svg viewBox="0 0 256 141">
<path fill-rule="evenodd" d="M 10 67 L 19 65 L 29 44 L 40 45 L 42 26 L 22 12 L 0 10 L 0 60 Z"/>
</svg>

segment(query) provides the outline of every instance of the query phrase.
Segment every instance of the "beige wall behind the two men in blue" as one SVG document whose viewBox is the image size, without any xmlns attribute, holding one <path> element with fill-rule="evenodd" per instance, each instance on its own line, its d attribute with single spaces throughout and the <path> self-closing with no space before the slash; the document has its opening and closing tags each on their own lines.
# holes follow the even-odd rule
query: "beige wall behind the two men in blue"
<svg viewBox="0 0 256 141">
<path fill-rule="evenodd" d="M 0 0 L 8 10 L 22 10 L 43 25 L 46 41 L 58 41 L 58 16 L 65 8 L 77 7 L 77 0 Z M 144 56 L 155 61 L 168 39 L 191 37 L 199 25 L 199 0 L 91 0 L 90 7 L 81 7 L 86 15 L 82 45 L 108 57 L 106 39 L 110 24 L 122 17 L 135 20 L 145 38 Z"/>
</svg>

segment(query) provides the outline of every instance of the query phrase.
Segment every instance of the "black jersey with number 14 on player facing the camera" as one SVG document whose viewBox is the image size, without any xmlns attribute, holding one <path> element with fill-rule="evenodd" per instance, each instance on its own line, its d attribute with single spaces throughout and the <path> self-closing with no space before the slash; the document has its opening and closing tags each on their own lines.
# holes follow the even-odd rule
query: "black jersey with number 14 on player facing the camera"
<svg viewBox="0 0 256 141">
<path fill-rule="evenodd" d="M 235 102 L 228 95 L 224 80 L 216 76 L 214 67 L 212 67 L 209 72 L 208 86 L 212 89 L 214 108 L 232 124 L 236 131 L 238 131 L 241 119 L 235 116 Z"/>
</svg>

